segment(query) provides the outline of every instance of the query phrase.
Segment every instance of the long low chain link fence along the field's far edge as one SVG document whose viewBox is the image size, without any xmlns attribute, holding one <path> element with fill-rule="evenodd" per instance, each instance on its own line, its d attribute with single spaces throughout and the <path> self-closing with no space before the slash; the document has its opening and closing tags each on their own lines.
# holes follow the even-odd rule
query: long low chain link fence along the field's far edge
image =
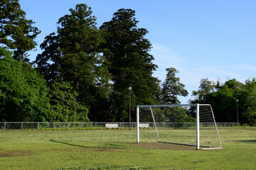
<svg viewBox="0 0 256 170">
<path fill-rule="evenodd" d="M 43 129 L 70 129 L 70 128 L 105 128 L 106 124 L 117 124 L 118 128 L 128 128 L 129 123 L 59 123 L 59 122 L 0 122 L 0 130 L 43 130 Z M 216 123 L 218 127 L 230 128 L 240 126 L 240 123 Z M 181 123 L 156 123 L 158 128 L 176 128 Z M 183 123 L 183 127 L 196 127 L 196 123 Z M 210 127 L 211 123 L 202 123 L 201 127 Z M 131 123 L 131 128 L 136 128 L 137 123 Z M 154 123 L 149 123 L 154 127 Z"/>
</svg>

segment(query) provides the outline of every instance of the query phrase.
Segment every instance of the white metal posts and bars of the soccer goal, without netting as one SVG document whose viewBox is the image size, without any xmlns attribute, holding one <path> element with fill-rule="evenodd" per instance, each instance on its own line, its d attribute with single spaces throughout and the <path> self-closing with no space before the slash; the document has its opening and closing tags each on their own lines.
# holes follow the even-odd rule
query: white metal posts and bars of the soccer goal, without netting
<svg viewBox="0 0 256 170">
<path fill-rule="evenodd" d="M 199 103 L 195 103 L 195 104 L 175 104 L 175 105 L 137 105 L 137 143 L 139 143 L 139 108 L 156 108 L 156 107 L 176 107 L 176 106 L 196 106 L 196 149 L 200 149 L 201 145 L 200 145 L 200 118 L 199 118 L 199 106 L 210 106 L 210 104 L 199 104 Z M 211 113 L 213 114 L 213 109 L 210 106 L 210 110 Z M 154 119 L 154 116 L 153 116 Z M 220 135 L 218 133 L 218 128 L 215 122 L 215 117 L 213 114 L 213 120 L 214 120 L 214 124 L 216 127 L 216 131 L 217 131 L 217 135 L 218 135 L 218 142 L 219 142 L 219 147 L 213 147 L 210 149 L 221 149 L 221 142 L 220 142 Z M 154 122 L 155 125 L 155 122 Z M 156 125 L 155 125 L 156 128 Z M 157 128 L 156 128 L 156 132 L 157 132 Z M 158 133 L 157 133 L 158 135 Z M 158 137 L 158 142 L 159 142 L 159 137 Z M 171 143 L 171 142 L 169 142 Z M 178 143 L 173 143 L 173 144 L 177 144 L 177 145 L 184 145 L 184 144 L 178 144 Z M 195 145 L 190 145 L 190 146 L 195 146 Z M 206 146 L 204 146 L 206 147 Z"/>
</svg>

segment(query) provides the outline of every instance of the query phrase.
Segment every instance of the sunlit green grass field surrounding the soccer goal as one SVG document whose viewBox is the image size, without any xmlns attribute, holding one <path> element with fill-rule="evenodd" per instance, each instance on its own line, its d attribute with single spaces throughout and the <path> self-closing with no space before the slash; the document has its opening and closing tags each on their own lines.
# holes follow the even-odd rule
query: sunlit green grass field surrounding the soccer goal
<svg viewBox="0 0 256 170">
<path fill-rule="evenodd" d="M 0 131 L 0 169 L 256 169 L 256 129 L 219 132 L 223 149 L 195 150 L 136 130 Z"/>
</svg>

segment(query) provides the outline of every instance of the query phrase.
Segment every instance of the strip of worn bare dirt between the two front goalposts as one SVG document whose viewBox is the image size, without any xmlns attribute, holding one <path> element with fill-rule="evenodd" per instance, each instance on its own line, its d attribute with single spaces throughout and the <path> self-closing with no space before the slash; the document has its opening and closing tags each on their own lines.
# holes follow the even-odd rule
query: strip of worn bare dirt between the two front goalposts
<svg viewBox="0 0 256 170">
<path fill-rule="evenodd" d="M 150 149 L 170 149 L 170 150 L 196 150 L 196 147 L 186 145 L 176 145 L 162 142 L 139 142 L 136 144 L 139 147 Z"/>
</svg>

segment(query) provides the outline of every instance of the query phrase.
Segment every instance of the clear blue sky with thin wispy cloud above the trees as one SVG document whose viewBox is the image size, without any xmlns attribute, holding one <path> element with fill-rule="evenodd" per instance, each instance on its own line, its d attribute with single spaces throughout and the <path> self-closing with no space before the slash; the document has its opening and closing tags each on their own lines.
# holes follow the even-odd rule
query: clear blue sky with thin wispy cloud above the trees
<svg viewBox="0 0 256 170">
<path fill-rule="evenodd" d="M 166 68 L 174 67 L 193 98 L 200 80 L 242 83 L 256 74 L 256 1 L 250 0 L 20 0 L 26 18 L 36 22 L 38 50 L 46 35 L 56 31 L 58 19 L 70 14 L 76 4 L 87 4 L 98 26 L 110 21 L 119 8 L 136 11 L 139 28 L 146 28 L 152 44 L 151 55 L 158 69 L 154 77 L 164 81 Z"/>
</svg>

